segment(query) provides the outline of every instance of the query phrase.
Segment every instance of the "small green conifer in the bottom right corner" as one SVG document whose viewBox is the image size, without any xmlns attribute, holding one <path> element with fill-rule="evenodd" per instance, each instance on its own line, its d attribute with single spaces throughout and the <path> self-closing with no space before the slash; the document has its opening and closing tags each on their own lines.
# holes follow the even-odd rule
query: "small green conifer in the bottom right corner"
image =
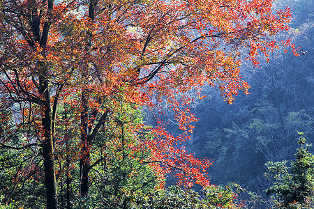
<svg viewBox="0 0 314 209">
<path fill-rule="evenodd" d="M 299 133 L 300 148 L 297 159 L 287 167 L 283 162 L 267 162 L 269 170 L 264 175 L 272 181 L 267 195 L 276 195 L 276 208 L 313 208 L 314 206 L 314 156 L 308 153 L 306 139 Z"/>
</svg>

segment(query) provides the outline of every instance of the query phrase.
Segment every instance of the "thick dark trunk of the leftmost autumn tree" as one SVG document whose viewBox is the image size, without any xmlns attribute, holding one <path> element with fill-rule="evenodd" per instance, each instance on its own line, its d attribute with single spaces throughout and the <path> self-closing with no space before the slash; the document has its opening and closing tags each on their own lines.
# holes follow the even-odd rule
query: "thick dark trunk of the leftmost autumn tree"
<svg viewBox="0 0 314 209">
<path fill-rule="evenodd" d="M 44 1 L 45 2 L 45 1 Z M 54 7 L 54 0 L 47 0 L 47 19 L 43 24 L 43 29 L 40 29 L 40 13 L 38 9 L 33 9 L 31 12 L 31 18 L 29 22 L 31 24 L 31 31 L 33 33 L 34 42 L 29 42 L 32 47 L 35 42 L 38 42 L 40 47 L 43 49 L 42 55 L 45 57 L 45 49 L 47 47 L 47 40 L 49 36 L 52 10 Z M 36 2 L 34 5 L 36 5 Z M 41 10 L 42 8 L 40 8 Z M 41 32 L 41 36 L 40 36 Z M 52 130 L 52 111 L 50 101 L 50 90 L 48 84 L 48 69 L 44 62 L 38 62 L 38 77 L 39 77 L 39 93 L 43 98 L 43 104 L 41 104 L 42 113 L 42 126 L 43 126 L 43 161 L 45 171 L 45 187 L 47 196 L 47 208 L 58 208 L 58 197 L 57 197 L 57 182 L 54 170 L 54 141 L 53 141 L 53 130 Z M 56 98 L 57 100 L 57 98 Z M 57 102 L 57 101 L 56 101 Z"/>
</svg>

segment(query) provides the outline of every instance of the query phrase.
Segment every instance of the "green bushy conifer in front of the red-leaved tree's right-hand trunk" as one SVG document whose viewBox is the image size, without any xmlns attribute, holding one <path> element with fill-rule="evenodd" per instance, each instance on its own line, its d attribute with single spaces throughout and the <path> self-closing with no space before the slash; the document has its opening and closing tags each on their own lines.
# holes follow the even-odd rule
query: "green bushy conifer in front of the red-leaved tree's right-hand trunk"
<svg viewBox="0 0 314 209">
<path fill-rule="evenodd" d="M 91 171 L 96 171 L 90 176 L 94 185 L 90 186 L 89 196 L 81 199 L 80 205 L 130 208 L 134 199 L 146 196 L 158 185 L 151 167 L 144 163 L 151 153 L 147 146 L 140 144 L 143 138 L 149 141 L 153 136 L 138 129 L 142 124 L 142 112 L 135 108 L 137 105 L 126 104 L 123 96 L 118 96 L 120 105 L 116 105 L 116 118 L 105 124 L 106 131 L 100 131 L 94 141 L 93 150 L 96 151 L 91 151 L 91 156 L 98 158 L 91 164 Z M 138 136 L 135 132 L 139 133 Z M 91 202 L 91 198 L 94 201 Z"/>
</svg>

